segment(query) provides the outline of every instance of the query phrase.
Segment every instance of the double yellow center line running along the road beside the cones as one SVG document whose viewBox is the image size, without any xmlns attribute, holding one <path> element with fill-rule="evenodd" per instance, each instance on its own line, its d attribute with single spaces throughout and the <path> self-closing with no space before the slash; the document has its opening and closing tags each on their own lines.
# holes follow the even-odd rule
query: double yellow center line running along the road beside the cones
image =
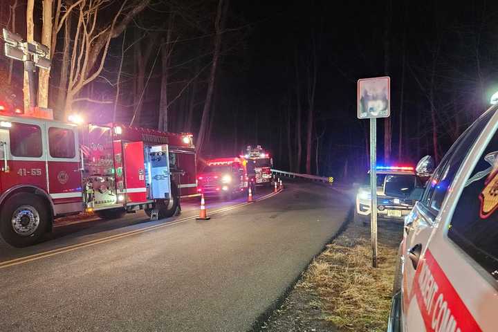
<svg viewBox="0 0 498 332">
<path fill-rule="evenodd" d="M 259 199 L 255 200 L 255 201 L 263 201 L 264 199 L 269 199 L 270 197 L 275 196 L 279 192 L 272 192 L 270 194 L 267 194 L 265 196 L 260 197 Z M 241 206 L 248 205 L 248 204 L 250 204 L 250 203 L 248 203 L 248 202 L 239 203 L 236 205 L 229 206 L 227 208 L 221 208 L 219 210 L 214 210 L 214 211 L 210 212 L 210 214 L 217 214 L 217 213 L 221 213 L 221 212 L 234 210 L 234 209 L 240 208 Z M 34 255 L 30 255 L 30 256 L 26 256 L 26 257 L 19 257 L 17 259 L 11 259 L 9 261 L 2 261 L 2 262 L 0 262 L 0 269 L 1 268 L 8 268 L 10 266 L 16 266 L 19 264 L 25 264 L 25 263 L 28 263 L 30 261 L 37 261 L 38 259 L 59 255 L 59 254 L 62 254 L 64 252 L 70 252 L 70 251 L 81 249 L 81 248 L 88 248 L 88 247 L 95 246 L 95 245 L 100 244 L 100 243 L 114 241 L 117 239 L 123 239 L 124 237 L 131 237 L 132 235 L 135 235 L 135 234 L 140 234 L 143 232 L 149 232 L 150 230 L 156 230 L 158 228 L 164 228 L 167 226 L 176 225 L 178 223 L 183 223 L 185 221 L 193 220 L 196 218 L 197 218 L 197 216 L 187 216 L 185 218 L 178 219 L 178 220 L 175 220 L 175 221 L 172 221 L 169 223 L 161 223 L 160 225 L 152 225 L 152 226 L 149 226 L 146 228 L 141 228 L 140 230 L 131 230 L 129 232 L 124 232 L 121 234 L 110 235 L 109 237 L 102 237 L 101 239 L 95 239 L 95 240 L 86 241 L 83 243 L 77 243 L 77 244 L 73 244 L 71 246 L 66 246 L 63 248 L 48 250 L 46 252 L 39 252 L 38 254 L 34 254 Z"/>
</svg>

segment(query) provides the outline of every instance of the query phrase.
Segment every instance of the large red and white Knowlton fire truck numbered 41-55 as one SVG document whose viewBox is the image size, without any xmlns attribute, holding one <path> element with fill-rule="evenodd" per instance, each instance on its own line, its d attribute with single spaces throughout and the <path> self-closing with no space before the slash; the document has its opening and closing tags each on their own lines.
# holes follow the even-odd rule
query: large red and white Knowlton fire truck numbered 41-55
<svg viewBox="0 0 498 332">
<path fill-rule="evenodd" d="M 59 216 L 172 216 L 196 195 L 191 134 L 74 124 L 0 109 L 0 234 L 30 246 Z"/>
</svg>

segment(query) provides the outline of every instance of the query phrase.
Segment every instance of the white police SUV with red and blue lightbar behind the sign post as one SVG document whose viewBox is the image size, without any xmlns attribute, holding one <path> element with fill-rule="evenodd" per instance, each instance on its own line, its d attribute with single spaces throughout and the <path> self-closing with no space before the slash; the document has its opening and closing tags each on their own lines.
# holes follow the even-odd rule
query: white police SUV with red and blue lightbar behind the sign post
<svg viewBox="0 0 498 332">
<path fill-rule="evenodd" d="M 414 206 L 414 200 L 409 194 L 415 187 L 421 187 L 421 180 L 415 174 L 414 167 L 407 166 L 377 166 L 377 217 L 403 221 Z M 391 190 L 397 188 L 397 196 L 385 194 L 385 184 Z M 356 194 L 355 221 L 364 224 L 370 221 L 370 174 Z"/>
</svg>

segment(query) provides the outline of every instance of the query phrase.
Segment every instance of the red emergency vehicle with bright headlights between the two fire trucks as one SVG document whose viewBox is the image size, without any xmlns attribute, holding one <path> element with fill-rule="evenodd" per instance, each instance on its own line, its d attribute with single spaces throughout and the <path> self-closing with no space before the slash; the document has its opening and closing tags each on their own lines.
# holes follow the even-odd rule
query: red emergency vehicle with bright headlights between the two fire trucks
<svg viewBox="0 0 498 332">
<path fill-rule="evenodd" d="M 206 166 L 197 178 L 197 192 L 232 199 L 248 188 L 246 164 L 243 158 L 206 160 Z"/>
</svg>

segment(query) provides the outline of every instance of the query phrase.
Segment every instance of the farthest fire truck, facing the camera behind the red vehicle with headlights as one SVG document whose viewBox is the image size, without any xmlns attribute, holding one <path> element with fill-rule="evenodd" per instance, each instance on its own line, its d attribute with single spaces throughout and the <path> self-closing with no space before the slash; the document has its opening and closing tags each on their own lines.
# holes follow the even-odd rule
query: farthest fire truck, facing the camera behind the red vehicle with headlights
<svg viewBox="0 0 498 332">
<path fill-rule="evenodd" d="M 257 185 L 271 184 L 273 158 L 270 158 L 270 154 L 264 151 L 261 145 L 257 145 L 255 148 L 248 145 L 246 154 L 243 155 L 243 158 L 248 160 L 248 174 L 254 176 L 254 181 Z"/>
</svg>

